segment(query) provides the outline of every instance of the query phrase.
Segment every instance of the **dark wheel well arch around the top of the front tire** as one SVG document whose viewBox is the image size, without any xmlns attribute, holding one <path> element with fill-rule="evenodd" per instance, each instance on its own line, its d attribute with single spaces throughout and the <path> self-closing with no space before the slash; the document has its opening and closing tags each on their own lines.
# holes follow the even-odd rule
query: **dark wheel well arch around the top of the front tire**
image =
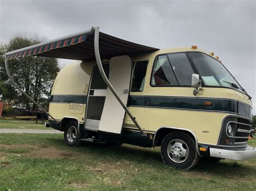
<svg viewBox="0 0 256 191">
<path fill-rule="evenodd" d="M 188 136 L 190 136 L 194 140 L 195 144 L 197 143 L 196 138 L 190 131 L 183 130 L 183 129 L 161 128 L 156 132 L 156 135 L 154 136 L 153 146 L 161 146 L 161 143 L 165 138 L 165 136 L 174 131 L 186 133 Z"/>
</svg>

